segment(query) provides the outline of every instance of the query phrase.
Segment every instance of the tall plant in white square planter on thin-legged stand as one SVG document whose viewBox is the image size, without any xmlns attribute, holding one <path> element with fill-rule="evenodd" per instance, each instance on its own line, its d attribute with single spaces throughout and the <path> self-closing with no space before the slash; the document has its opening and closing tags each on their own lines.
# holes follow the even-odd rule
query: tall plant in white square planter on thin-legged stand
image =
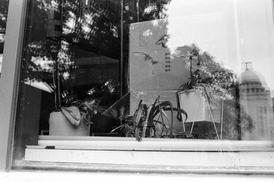
<svg viewBox="0 0 274 182">
<path fill-rule="evenodd" d="M 221 99 L 225 95 L 222 92 L 224 85 L 219 83 L 226 81 L 222 80 L 221 76 L 218 76 L 218 73 L 222 73 L 221 67 L 214 62 L 211 62 L 214 63 L 210 65 L 211 67 L 208 67 L 206 64 L 208 61 L 212 61 L 212 58 L 207 53 L 200 54 L 200 50 L 195 45 L 184 47 L 184 49 L 191 49 L 190 52 L 187 52 L 186 56 L 181 56 L 188 61 L 190 81 L 182 84 L 179 88 L 181 91 L 178 94 L 180 95 L 180 103 L 187 102 L 182 107 L 189 113 L 189 121 L 192 122 L 188 130 L 190 130 L 190 133 L 193 132 L 195 122 L 212 122 L 214 133 L 211 133 L 209 128 L 207 130 L 210 133 L 210 137 L 213 136 L 213 138 L 219 139 L 216 122 L 220 122 L 218 120 L 219 113 L 221 113 L 219 108 L 221 107 Z M 207 58 L 209 59 L 207 60 Z M 194 62 L 196 65 L 194 65 Z M 206 133 L 206 131 L 203 131 L 203 133 Z"/>
</svg>

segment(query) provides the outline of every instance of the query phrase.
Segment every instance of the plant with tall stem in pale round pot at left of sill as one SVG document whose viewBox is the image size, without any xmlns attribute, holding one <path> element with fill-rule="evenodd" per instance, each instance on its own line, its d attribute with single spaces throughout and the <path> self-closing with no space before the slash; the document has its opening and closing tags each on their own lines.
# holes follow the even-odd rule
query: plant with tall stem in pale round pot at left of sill
<svg viewBox="0 0 274 182">
<path fill-rule="evenodd" d="M 82 101 L 75 100 L 75 97 L 66 97 L 62 101 L 60 78 L 64 77 L 69 64 L 71 56 L 63 47 L 58 52 L 53 71 L 55 111 L 49 118 L 49 135 L 90 135 L 91 119 L 97 113 L 95 100 Z"/>
</svg>

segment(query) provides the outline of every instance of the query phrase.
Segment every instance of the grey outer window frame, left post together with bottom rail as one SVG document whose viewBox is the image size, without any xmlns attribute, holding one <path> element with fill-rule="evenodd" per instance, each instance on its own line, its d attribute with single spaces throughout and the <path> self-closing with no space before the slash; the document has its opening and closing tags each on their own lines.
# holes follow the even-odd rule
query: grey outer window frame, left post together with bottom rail
<svg viewBox="0 0 274 182">
<path fill-rule="evenodd" d="M 23 36 L 25 34 L 27 5 L 29 1 L 10 0 L 8 21 L 5 36 L 5 48 L 3 52 L 3 65 L 0 79 L 0 169 L 12 169 L 12 153 L 15 133 L 16 106 L 18 98 L 21 58 L 23 51 Z M 274 15 L 273 15 L 274 16 Z M 98 138 L 99 139 L 99 138 Z M 110 139 L 112 140 L 112 139 Z M 103 141 L 101 141 L 103 142 Z M 109 142 L 109 141 L 107 141 Z M 132 141 L 131 144 L 134 144 Z M 161 140 L 158 140 L 160 144 Z M 157 144 L 157 142 L 156 142 Z M 99 152 L 107 151 L 108 149 Z M 207 151 L 207 149 L 205 148 Z M 219 152 L 216 148 L 213 152 Z M 134 148 L 130 151 L 134 151 Z M 184 149 L 181 152 L 186 152 Z M 209 150 L 208 150 L 209 151 Z M 170 151 L 172 152 L 172 150 Z M 193 153 L 205 151 L 192 151 Z M 226 152 L 219 152 L 226 155 Z M 121 157 L 122 159 L 123 157 Z M 88 171 L 112 171 L 112 172 L 145 172 L 145 173 L 228 173 L 228 174 L 274 174 L 273 167 L 243 167 L 243 168 L 216 168 L 204 166 L 151 166 L 151 165 L 121 165 L 121 164 L 81 164 L 81 163 L 52 163 L 52 162 L 27 162 L 18 163 L 13 169 L 51 169 L 51 170 L 88 170 Z"/>
</svg>

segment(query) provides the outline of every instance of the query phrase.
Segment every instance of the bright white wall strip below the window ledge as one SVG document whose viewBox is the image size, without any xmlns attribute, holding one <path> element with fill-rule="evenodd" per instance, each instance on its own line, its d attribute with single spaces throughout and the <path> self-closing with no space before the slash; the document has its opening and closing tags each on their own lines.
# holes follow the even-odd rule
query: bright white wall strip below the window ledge
<svg viewBox="0 0 274 182">
<path fill-rule="evenodd" d="M 1 182 L 28 181 L 188 181 L 188 182 L 270 182 L 273 176 L 241 176 L 241 175 L 199 175 L 199 174 L 117 174 L 117 173 L 90 173 L 90 172 L 0 172 Z"/>
</svg>

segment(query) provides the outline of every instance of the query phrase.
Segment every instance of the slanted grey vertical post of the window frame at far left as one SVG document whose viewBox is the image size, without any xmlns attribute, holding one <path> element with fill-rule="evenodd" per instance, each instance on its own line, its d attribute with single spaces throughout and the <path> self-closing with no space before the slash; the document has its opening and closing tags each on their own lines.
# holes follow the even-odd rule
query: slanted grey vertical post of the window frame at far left
<svg viewBox="0 0 274 182">
<path fill-rule="evenodd" d="M 10 0 L 0 79 L 0 170 L 11 168 L 18 80 L 27 1 Z"/>
</svg>

